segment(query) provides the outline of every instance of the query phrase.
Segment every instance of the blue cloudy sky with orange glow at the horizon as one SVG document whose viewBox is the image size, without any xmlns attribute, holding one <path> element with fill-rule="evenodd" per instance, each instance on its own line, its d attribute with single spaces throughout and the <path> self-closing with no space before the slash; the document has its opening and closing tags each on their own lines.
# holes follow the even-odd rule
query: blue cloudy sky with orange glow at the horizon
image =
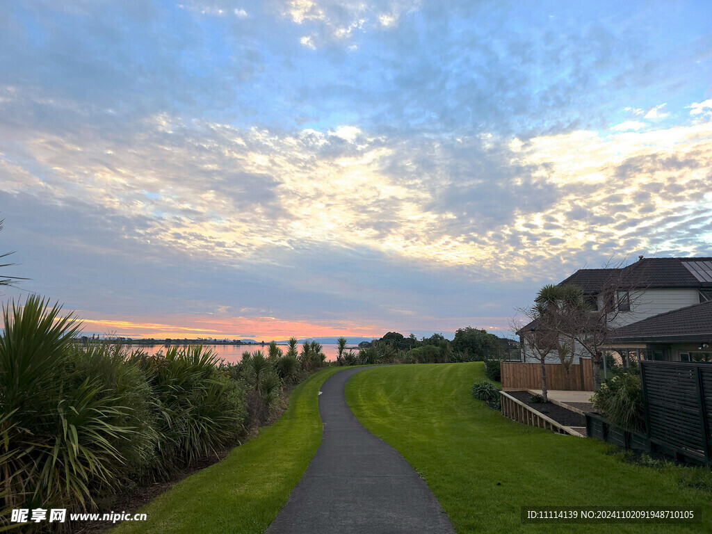
<svg viewBox="0 0 712 534">
<path fill-rule="evenodd" d="M 0 253 L 87 333 L 511 335 L 712 256 L 712 3 L 0 3 Z"/>
</svg>

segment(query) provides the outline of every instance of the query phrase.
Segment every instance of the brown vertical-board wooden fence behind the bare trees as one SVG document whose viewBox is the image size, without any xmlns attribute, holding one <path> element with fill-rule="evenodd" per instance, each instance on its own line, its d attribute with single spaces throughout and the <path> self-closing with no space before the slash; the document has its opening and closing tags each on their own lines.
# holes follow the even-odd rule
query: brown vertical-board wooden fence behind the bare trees
<svg viewBox="0 0 712 534">
<path fill-rule="evenodd" d="M 581 358 L 580 364 L 571 366 L 573 391 L 593 391 L 593 366 L 590 358 Z M 541 389 L 541 364 L 500 362 L 503 391 Z M 568 389 L 564 380 L 564 370 L 559 363 L 546 366 L 546 387 L 548 389 Z M 582 376 L 583 374 L 583 376 Z"/>
</svg>

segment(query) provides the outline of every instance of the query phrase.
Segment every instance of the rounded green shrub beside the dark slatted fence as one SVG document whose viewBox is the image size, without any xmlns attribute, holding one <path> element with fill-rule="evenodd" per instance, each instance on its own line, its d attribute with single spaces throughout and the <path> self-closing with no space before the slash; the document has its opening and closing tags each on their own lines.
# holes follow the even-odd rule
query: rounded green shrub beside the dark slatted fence
<svg viewBox="0 0 712 534">
<path fill-rule="evenodd" d="M 645 429 L 643 388 L 635 370 L 604 382 L 591 402 L 610 424 L 632 430 Z"/>
</svg>

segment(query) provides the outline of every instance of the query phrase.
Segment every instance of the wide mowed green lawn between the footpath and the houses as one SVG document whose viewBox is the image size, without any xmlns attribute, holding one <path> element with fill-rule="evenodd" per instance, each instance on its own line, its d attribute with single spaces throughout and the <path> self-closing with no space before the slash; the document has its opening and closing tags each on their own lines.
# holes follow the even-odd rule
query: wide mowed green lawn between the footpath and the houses
<svg viewBox="0 0 712 534">
<path fill-rule="evenodd" d="M 346 384 L 356 417 L 420 473 L 458 533 L 712 531 L 709 470 L 627 464 L 600 441 L 515 423 L 472 397 L 481 379 L 477 362 L 379 367 Z M 526 525 L 520 506 L 700 507 L 703 523 Z"/>
</svg>

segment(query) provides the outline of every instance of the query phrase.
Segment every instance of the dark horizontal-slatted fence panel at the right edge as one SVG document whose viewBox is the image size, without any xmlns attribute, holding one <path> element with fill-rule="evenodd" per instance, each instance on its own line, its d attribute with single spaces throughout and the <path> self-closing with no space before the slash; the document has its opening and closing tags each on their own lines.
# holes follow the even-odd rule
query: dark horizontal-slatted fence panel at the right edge
<svg viewBox="0 0 712 534">
<path fill-rule="evenodd" d="M 712 463 L 712 365 L 643 361 L 641 377 L 651 445 Z"/>
</svg>

